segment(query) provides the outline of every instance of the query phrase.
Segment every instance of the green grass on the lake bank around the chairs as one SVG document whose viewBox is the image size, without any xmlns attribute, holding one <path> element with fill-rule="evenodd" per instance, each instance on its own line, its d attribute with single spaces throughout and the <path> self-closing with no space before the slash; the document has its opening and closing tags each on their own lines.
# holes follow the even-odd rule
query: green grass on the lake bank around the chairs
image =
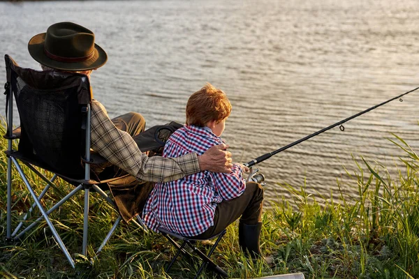
<svg viewBox="0 0 419 279">
<path fill-rule="evenodd" d="M 358 195 L 353 197 L 343 190 L 330 197 L 314 197 L 307 193 L 305 183 L 298 187 L 279 185 L 292 199 L 283 199 L 265 211 L 260 239 L 263 252 L 274 257 L 274 265 L 251 262 L 243 256 L 238 248 L 237 224 L 228 227 L 212 258 L 230 278 L 294 272 L 302 272 L 306 278 L 419 278 L 419 156 L 402 138 L 393 135 L 391 141 L 400 147 L 398 160 L 404 168 L 390 175 L 379 163 L 354 159 L 357 170 L 347 172 L 351 185 L 337 182 L 339 189 L 358 188 Z M 6 140 L 0 146 L 5 150 Z M 198 270 L 198 261 L 182 258 L 166 273 L 166 264 L 174 254 L 168 241 L 160 234 L 145 234 L 126 224 L 119 226 L 103 252 L 94 258 L 94 250 L 117 218 L 114 209 L 95 194 L 90 199 L 88 257 L 77 254 L 82 245 L 82 195 L 51 215 L 75 257 L 75 269 L 59 250 L 45 221 L 19 243 L 5 241 L 7 166 L 3 153 L 0 157 L 1 278 L 191 278 Z M 32 202 L 24 183 L 14 177 L 13 227 Z M 44 183 L 34 175 L 28 179 L 39 185 L 34 188 L 41 193 Z M 49 208 L 72 189 L 59 180 L 43 205 Z M 213 277 L 211 271 L 202 276 Z"/>
</svg>

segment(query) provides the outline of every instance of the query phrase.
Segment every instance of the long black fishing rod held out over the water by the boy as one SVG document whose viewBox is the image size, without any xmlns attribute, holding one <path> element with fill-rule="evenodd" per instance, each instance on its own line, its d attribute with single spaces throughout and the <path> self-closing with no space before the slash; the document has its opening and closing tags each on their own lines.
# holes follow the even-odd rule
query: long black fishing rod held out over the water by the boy
<svg viewBox="0 0 419 279">
<path fill-rule="evenodd" d="M 343 130 L 345 130 L 345 128 L 344 128 L 344 126 L 343 126 L 343 124 L 344 124 L 345 122 L 347 122 L 347 121 L 349 121 L 349 120 L 351 120 L 351 119 L 354 119 L 355 117 L 358 117 L 358 116 L 360 116 L 360 115 L 362 115 L 362 114 L 365 114 L 365 113 L 367 113 L 367 112 L 370 112 L 370 111 L 372 111 L 372 110 L 375 110 L 377 107 L 381 107 L 382 105 L 385 105 L 386 103 L 390 103 L 392 100 L 399 99 L 399 100 L 400 100 L 400 102 L 403 102 L 403 99 L 402 99 L 402 97 L 403 97 L 403 96 L 405 96 L 405 95 L 407 95 L 407 94 L 409 94 L 409 93 L 411 93 L 411 92 L 413 92 L 413 91 L 416 91 L 416 90 L 418 90 L 418 89 L 419 89 L 419 87 L 416 87 L 416 89 L 413 89 L 413 90 L 411 90 L 411 91 L 408 91 L 408 92 L 406 92 L 406 93 L 403 93 L 402 95 L 399 95 L 399 96 L 397 96 L 397 97 L 395 97 L 395 98 L 391 98 L 391 99 L 389 99 L 389 100 L 386 100 L 385 102 L 383 102 L 383 103 L 381 103 L 381 104 L 374 105 L 374 107 L 369 107 L 369 109 L 367 109 L 367 110 L 364 110 L 364 111 L 362 111 L 362 112 L 359 112 L 358 114 L 353 114 L 353 116 L 349 116 L 348 118 L 346 118 L 346 119 L 344 119 L 344 120 L 342 120 L 342 121 L 339 121 L 339 122 L 337 122 L 337 123 L 335 123 L 335 124 L 333 124 L 333 125 L 330 125 L 330 126 L 328 126 L 328 127 L 326 127 L 326 128 L 323 128 L 323 129 L 321 129 L 321 130 L 318 130 L 316 133 L 312 133 L 311 135 L 307 135 L 307 137 L 303 137 L 302 139 L 297 140 L 297 141 L 295 141 L 295 142 L 293 142 L 293 143 L 291 143 L 291 144 L 288 144 L 288 145 L 286 145 L 286 146 L 283 146 L 283 147 L 281 147 L 280 149 L 277 149 L 277 150 L 275 150 L 275 151 L 272 151 L 272 152 L 268 152 L 268 153 L 266 153 L 266 154 L 263 154 L 262 156 L 259 156 L 258 158 L 253 159 L 253 160 L 251 160 L 251 161 L 250 161 L 250 162 L 248 162 L 248 163 L 244 163 L 243 165 L 245 165 L 246 167 L 252 167 L 253 165 L 256 165 L 256 164 L 258 164 L 258 163 L 263 162 L 264 160 L 267 160 L 267 159 L 271 158 L 272 156 L 274 156 L 275 154 L 277 154 L 277 153 L 279 153 L 279 152 L 282 152 L 282 151 L 284 151 L 284 150 L 286 150 L 286 149 L 289 149 L 290 147 L 293 147 L 293 146 L 295 146 L 295 145 L 297 145 L 297 144 L 300 144 L 300 143 L 302 143 L 302 142 L 304 142 L 304 141 L 306 141 L 306 140 L 309 140 L 309 139 L 311 139 L 311 137 L 316 137 L 316 135 L 320 135 L 321 133 L 323 133 L 323 132 L 325 132 L 325 131 L 327 131 L 327 130 L 330 130 L 330 129 L 332 129 L 332 128 L 335 128 L 336 126 L 339 126 L 339 129 L 340 129 L 341 131 L 343 131 Z"/>
</svg>

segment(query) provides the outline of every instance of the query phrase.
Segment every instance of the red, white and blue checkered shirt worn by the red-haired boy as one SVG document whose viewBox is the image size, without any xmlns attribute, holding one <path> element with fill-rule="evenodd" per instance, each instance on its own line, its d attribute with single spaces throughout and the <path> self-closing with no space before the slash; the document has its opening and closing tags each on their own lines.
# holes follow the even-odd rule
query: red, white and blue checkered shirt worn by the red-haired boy
<svg viewBox="0 0 419 279">
<path fill-rule="evenodd" d="M 210 128 L 184 126 L 173 133 L 164 147 L 164 157 L 204 153 L 223 143 Z M 242 168 L 233 164 L 232 173 L 198 172 L 172 182 L 156 183 L 147 199 L 143 218 L 147 227 L 163 227 L 183 236 L 196 236 L 214 225 L 216 204 L 242 195 L 246 183 Z"/>
</svg>

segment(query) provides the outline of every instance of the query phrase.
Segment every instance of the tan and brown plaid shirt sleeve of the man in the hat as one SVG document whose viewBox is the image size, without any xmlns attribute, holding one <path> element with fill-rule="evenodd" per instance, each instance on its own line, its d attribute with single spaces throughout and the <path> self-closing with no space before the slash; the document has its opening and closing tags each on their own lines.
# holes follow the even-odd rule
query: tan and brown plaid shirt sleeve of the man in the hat
<svg viewBox="0 0 419 279">
<path fill-rule="evenodd" d="M 196 153 L 178 158 L 147 157 L 131 135 L 115 127 L 97 100 L 91 101 L 91 149 L 142 181 L 173 181 L 200 172 Z"/>
</svg>

